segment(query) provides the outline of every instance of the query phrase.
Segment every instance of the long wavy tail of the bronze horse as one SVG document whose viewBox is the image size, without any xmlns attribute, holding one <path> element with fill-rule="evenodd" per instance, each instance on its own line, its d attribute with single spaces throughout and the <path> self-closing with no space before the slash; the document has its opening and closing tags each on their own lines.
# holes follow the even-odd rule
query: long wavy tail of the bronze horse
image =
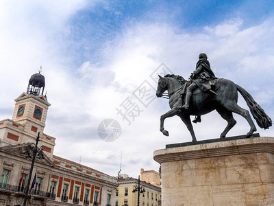
<svg viewBox="0 0 274 206">
<path fill-rule="evenodd" d="M 251 114 L 253 115 L 254 119 L 256 119 L 256 122 L 260 128 L 267 129 L 269 126 L 272 126 L 272 120 L 271 118 L 264 113 L 264 110 L 262 107 L 253 100 L 252 96 L 245 91 L 242 87 L 237 85 L 237 90 L 240 92 L 242 97 L 245 99 L 245 102 L 247 102 L 247 106 L 249 106 L 249 109 L 251 111 Z"/>
</svg>

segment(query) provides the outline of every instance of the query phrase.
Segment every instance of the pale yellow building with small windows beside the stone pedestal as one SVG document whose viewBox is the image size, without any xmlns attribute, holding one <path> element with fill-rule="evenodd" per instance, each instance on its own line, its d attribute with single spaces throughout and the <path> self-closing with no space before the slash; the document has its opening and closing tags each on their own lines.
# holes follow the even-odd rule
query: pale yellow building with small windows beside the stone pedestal
<svg viewBox="0 0 274 206">
<path fill-rule="evenodd" d="M 138 186 L 138 179 L 127 178 L 118 179 L 119 187 L 116 190 L 116 206 L 136 206 L 138 205 L 138 192 L 133 192 Z M 140 206 L 160 206 L 161 188 L 144 181 L 140 181 L 140 187 L 145 188 L 139 196 Z"/>
</svg>

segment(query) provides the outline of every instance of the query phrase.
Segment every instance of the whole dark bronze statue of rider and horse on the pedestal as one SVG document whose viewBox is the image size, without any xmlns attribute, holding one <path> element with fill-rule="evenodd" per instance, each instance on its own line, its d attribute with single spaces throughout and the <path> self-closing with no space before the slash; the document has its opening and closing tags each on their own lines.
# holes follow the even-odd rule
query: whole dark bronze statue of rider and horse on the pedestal
<svg viewBox="0 0 274 206">
<path fill-rule="evenodd" d="M 208 56 L 204 53 L 199 54 L 199 61 L 196 69 L 191 73 L 189 81 L 182 76 L 167 74 L 159 76 L 156 96 L 158 98 L 168 96 L 171 110 L 160 118 L 160 131 L 169 136 L 169 132 L 164 129 L 164 119 L 178 115 L 190 131 L 192 141 L 197 141 L 190 121 L 190 115 L 196 118 L 192 122 L 201 122 L 201 115 L 216 111 L 227 121 L 227 126 L 220 138 L 225 135 L 236 124 L 232 113 L 237 113 L 247 119 L 250 130 L 246 137 L 249 138 L 256 132 L 256 126 L 249 115 L 249 111 L 238 106 L 238 91 L 247 102 L 254 119 L 260 128 L 272 126 L 271 118 L 264 113 L 262 107 L 253 100 L 252 96 L 238 84 L 223 78 L 216 78 L 208 61 Z M 168 94 L 164 94 L 164 91 Z"/>
</svg>

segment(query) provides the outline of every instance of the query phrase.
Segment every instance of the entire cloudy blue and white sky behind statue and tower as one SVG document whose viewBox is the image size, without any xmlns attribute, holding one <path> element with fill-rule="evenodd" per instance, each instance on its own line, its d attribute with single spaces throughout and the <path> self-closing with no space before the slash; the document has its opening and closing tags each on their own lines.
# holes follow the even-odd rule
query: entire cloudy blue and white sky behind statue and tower
<svg viewBox="0 0 274 206">
<path fill-rule="evenodd" d="M 45 133 L 56 137 L 55 155 L 82 156 L 115 176 L 122 152 L 123 173 L 157 171 L 153 151 L 191 137 L 179 117 L 166 119 L 164 137 L 159 119 L 167 101 L 146 107 L 134 91 L 145 81 L 157 87 L 150 75 L 162 63 L 187 79 L 206 52 L 216 76 L 240 84 L 273 119 L 273 10 L 273 1 L 1 1 L 0 119 L 12 117 L 14 99 L 42 65 L 51 103 Z M 142 110 L 130 125 L 116 110 L 127 98 Z M 242 98 L 239 104 L 247 108 Z M 97 135 L 108 118 L 122 128 L 112 143 Z M 235 118 L 228 136 L 249 130 Z M 226 122 L 216 112 L 202 119 L 197 139 L 219 137 Z M 258 132 L 273 136 L 272 128 Z"/>
</svg>

